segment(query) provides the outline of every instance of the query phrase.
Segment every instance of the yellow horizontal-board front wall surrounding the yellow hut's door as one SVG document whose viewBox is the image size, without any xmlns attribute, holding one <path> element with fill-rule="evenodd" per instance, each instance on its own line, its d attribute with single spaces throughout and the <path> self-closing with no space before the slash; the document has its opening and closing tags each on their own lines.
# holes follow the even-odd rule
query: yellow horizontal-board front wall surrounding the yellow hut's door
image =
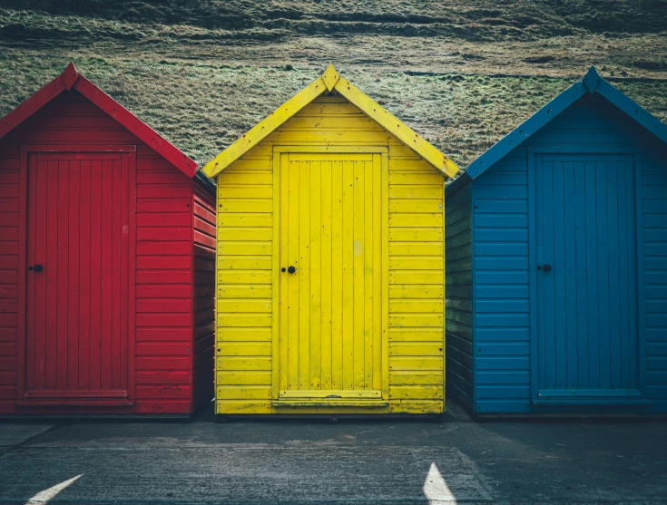
<svg viewBox="0 0 667 505">
<path fill-rule="evenodd" d="M 276 413 L 270 402 L 272 152 L 274 145 L 304 144 L 388 147 L 389 407 L 367 412 L 442 412 L 444 178 L 344 98 L 322 96 L 218 178 L 216 413 Z M 364 412 L 339 407 L 337 413 Z"/>
</svg>

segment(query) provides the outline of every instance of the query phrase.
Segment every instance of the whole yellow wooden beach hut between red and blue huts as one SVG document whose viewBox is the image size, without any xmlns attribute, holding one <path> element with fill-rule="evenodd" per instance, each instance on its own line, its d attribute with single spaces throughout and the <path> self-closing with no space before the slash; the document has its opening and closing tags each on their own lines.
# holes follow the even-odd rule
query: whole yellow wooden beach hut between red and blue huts
<svg viewBox="0 0 667 505">
<path fill-rule="evenodd" d="M 333 65 L 204 167 L 221 420 L 444 411 L 457 170 Z"/>
</svg>

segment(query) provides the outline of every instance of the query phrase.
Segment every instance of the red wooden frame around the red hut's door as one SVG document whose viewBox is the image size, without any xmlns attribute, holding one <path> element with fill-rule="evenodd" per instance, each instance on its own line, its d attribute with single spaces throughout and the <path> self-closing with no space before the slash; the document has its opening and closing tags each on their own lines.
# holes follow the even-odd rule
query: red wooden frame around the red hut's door
<svg viewBox="0 0 667 505">
<path fill-rule="evenodd" d="M 128 230 L 128 356 L 127 356 L 127 396 L 117 399 L 104 397 L 100 399 L 67 400 L 66 397 L 53 399 L 25 399 L 25 373 L 26 346 L 27 346 L 27 227 L 28 227 L 28 160 L 30 154 L 40 152 L 71 152 L 71 153 L 120 153 L 121 163 L 128 169 L 127 184 L 130 188 L 128 194 L 128 217 L 130 228 Z M 132 406 L 135 399 L 135 328 L 136 328 L 136 207 L 137 207 L 137 183 L 136 183 L 136 145 L 106 145 L 106 144 L 29 144 L 22 145 L 19 159 L 19 196 L 18 196 L 18 341 L 17 341 L 17 366 L 16 366 L 16 398 L 17 406 Z"/>
</svg>

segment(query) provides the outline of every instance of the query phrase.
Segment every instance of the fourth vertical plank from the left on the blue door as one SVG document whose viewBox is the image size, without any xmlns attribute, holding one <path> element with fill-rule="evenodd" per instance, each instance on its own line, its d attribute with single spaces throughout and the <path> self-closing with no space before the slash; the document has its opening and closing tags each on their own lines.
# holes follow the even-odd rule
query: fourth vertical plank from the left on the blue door
<svg viewBox="0 0 667 505">
<path fill-rule="evenodd" d="M 598 324 L 598 237 L 597 170 L 594 161 L 586 161 L 586 271 L 588 285 L 588 384 L 591 389 L 600 387 L 600 325 Z"/>
</svg>

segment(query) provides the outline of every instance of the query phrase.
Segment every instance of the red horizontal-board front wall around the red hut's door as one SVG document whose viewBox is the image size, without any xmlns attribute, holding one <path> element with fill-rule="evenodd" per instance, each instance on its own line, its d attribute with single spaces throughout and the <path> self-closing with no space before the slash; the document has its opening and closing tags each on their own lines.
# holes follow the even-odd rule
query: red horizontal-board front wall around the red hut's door
<svg viewBox="0 0 667 505">
<path fill-rule="evenodd" d="M 123 412 L 190 413 L 192 180 L 75 91 L 56 97 L 0 141 L 0 413 L 16 412 L 19 149 L 30 143 L 137 146 L 136 257 L 131 258 L 136 260 L 136 345 L 130 350 L 136 400 Z"/>
</svg>

